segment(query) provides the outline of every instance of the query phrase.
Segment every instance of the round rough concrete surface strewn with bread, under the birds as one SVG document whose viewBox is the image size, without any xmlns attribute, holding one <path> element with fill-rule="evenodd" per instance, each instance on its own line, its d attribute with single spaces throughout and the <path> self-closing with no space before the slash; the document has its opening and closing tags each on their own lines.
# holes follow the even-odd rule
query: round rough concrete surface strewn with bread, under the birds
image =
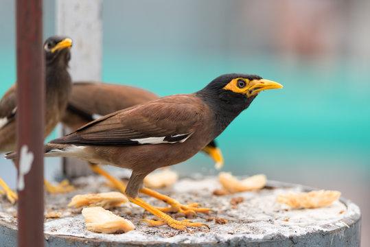
<svg viewBox="0 0 370 247">
<path fill-rule="evenodd" d="M 106 186 L 103 178 L 96 176 L 79 178 L 75 184 L 78 189 L 72 193 L 46 197 L 45 210 L 62 214 L 60 218 L 45 221 L 46 246 L 360 246 L 360 209 L 355 204 L 341 199 L 321 209 L 291 210 L 276 202 L 280 193 L 307 189 L 299 185 L 270 182 L 260 191 L 213 196 L 213 191 L 220 188 L 216 178 L 184 178 L 161 192 L 185 204 L 199 202 L 201 207 L 213 209 L 208 215 L 198 214 L 192 219 L 209 224 L 211 230 L 191 228 L 191 232 L 186 233 L 168 226 L 148 227 L 141 220 L 152 218 L 152 215 L 126 203 L 112 211 L 131 220 L 136 230 L 108 235 L 87 231 L 80 210 L 68 209 L 67 204 L 78 193 L 112 189 Z M 150 204 L 164 206 L 154 198 L 143 198 Z M 240 203 L 233 203 L 235 201 Z M 0 240 L 12 244 L 16 235 L 16 209 L 5 199 L 0 202 Z M 182 215 L 172 216 L 184 219 Z M 227 223 L 221 224 L 224 222 Z"/>
</svg>

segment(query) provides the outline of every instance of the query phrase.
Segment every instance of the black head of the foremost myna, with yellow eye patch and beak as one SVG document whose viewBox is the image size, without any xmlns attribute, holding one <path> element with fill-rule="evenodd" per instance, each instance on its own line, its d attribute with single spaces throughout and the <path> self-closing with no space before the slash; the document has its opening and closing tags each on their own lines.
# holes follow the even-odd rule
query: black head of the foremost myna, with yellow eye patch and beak
<svg viewBox="0 0 370 247">
<path fill-rule="evenodd" d="M 259 92 L 281 89 L 277 82 L 262 79 L 258 75 L 230 73 L 211 81 L 198 95 L 209 102 L 213 110 L 239 114 L 247 108 Z"/>
</svg>

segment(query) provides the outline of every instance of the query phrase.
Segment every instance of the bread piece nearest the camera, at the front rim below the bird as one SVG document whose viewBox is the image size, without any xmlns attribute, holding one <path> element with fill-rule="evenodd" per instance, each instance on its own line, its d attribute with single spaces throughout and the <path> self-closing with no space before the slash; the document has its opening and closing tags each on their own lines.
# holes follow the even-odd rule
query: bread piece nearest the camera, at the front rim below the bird
<svg viewBox="0 0 370 247">
<path fill-rule="evenodd" d="M 87 230 L 95 233 L 127 233 L 135 229 L 132 222 L 102 207 L 84 208 L 82 215 Z"/>
</svg>

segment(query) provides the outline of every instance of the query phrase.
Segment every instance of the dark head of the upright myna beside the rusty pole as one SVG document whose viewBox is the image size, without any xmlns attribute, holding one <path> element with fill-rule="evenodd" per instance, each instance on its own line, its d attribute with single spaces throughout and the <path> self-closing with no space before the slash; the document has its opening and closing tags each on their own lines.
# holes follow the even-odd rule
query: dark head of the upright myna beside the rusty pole
<svg viewBox="0 0 370 247">
<path fill-rule="evenodd" d="M 48 65 L 68 67 L 71 60 L 70 49 L 72 47 L 71 38 L 64 36 L 51 36 L 44 43 L 45 60 Z"/>
</svg>

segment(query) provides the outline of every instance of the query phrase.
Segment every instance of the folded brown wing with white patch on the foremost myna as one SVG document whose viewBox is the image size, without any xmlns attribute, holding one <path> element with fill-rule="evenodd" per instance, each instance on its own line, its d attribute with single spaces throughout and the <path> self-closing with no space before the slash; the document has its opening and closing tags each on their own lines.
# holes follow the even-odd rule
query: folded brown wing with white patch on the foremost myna
<svg viewBox="0 0 370 247">
<path fill-rule="evenodd" d="M 174 96 L 119 110 L 51 143 L 140 145 L 184 142 L 203 119 L 203 108 L 188 96 Z"/>
</svg>

